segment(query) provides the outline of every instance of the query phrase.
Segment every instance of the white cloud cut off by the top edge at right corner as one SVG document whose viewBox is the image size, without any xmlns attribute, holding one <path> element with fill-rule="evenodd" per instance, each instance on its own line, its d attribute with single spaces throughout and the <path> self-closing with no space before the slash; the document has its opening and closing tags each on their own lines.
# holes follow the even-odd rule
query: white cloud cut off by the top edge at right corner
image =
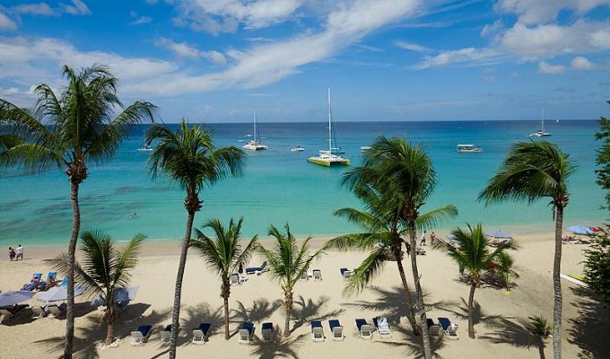
<svg viewBox="0 0 610 359">
<path fill-rule="evenodd" d="M 602 4 L 610 4 L 610 0 L 500 0 L 494 8 L 516 13 L 519 23 L 533 25 L 554 21 L 564 9 L 584 14 Z"/>
</svg>

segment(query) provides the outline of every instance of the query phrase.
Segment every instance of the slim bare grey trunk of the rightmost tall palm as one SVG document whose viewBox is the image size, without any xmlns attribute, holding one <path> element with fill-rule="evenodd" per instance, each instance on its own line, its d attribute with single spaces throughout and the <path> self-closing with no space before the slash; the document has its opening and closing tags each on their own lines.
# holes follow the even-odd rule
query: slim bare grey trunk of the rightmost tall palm
<svg viewBox="0 0 610 359">
<path fill-rule="evenodd" d="M 553 258 L 553 358 L 562 358 L 562 226 L 563 206 L 556 206 L 555 257 Z"/>
</svg>

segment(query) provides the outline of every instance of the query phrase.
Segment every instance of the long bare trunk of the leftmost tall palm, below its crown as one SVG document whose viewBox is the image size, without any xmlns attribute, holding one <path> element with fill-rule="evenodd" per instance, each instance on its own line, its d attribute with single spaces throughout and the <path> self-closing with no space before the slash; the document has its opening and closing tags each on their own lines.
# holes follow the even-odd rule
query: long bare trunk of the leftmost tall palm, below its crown
<svg viewBox="0 0 610 359">
<path fill-rule="evenodd" d="M 64 358 L 72 359 L 74 346 L 74 253 L 76 242 L 81 231 L 81 209 L 78 206 L 78 182 L 70 182 L 70 201 L 72 202 L 72 236 L 68 244 L 68 287 L 67 309 L 65 312 L 65 345 Z"/>
</svg>

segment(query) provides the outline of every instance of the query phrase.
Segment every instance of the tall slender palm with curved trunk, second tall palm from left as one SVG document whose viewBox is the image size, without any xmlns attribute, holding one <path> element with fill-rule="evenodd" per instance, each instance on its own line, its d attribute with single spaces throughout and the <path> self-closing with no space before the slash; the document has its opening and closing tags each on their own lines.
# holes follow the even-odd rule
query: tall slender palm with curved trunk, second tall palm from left
<svg viewBox="0 0 610 359">
<path fill-rule="evenodd" d="M 229 174 L 237 176 L 243 168 L 245 153 L 234 146 L 215 148 L 212 134 L 200 126 L 188 127 L 184 118 L 180 121 L 177 131 L 162 124 L 154 124 L 146 134 L 146 142 L 158 140 L 158 144 L 148 160 L 149 170 L 153 179 L 167 175 L 170 180 L 179 183 L 180 188 L 187 192 L 184 206 L 187 209 L 187 229 L 180 251 L 174 306 L 171 315 L 172 328 L 179 328 L 180 295 L 182 293 L 182 277 L 187 264 L 187 251 L 190 245 L 191 232 L 195 214 L 203 206 L 199 192 L 207 185 L 213 185 Z M 171 331 L 170 359 L 176 357 L 176 338 L 178 330 Z"/>
</svg>

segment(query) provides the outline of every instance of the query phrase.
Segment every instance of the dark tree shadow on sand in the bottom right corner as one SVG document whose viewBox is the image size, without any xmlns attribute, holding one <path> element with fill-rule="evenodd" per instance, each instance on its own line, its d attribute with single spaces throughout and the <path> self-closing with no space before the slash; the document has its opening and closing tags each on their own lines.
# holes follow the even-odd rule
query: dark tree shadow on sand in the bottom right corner
<svg viewBox="0 0 610 359">
<path fill-rule="evenodd" d="M 578 308 L 579 315 L 569 320 L 568 341 L 579 346 L 579 358 L 607 357 L 610 353 L 610 341 L 607 340 L 610 306 L 586 288 L 573 288 L 571 291 L 577 295 L 577 300 L 571 304 Z"/>
</svg>

